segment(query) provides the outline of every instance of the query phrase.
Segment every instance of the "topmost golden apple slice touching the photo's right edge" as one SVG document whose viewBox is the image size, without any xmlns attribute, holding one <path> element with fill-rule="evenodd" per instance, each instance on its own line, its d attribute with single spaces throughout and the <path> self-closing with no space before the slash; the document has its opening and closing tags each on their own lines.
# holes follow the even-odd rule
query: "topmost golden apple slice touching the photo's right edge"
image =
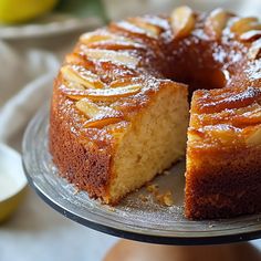
<svg viewBox="0 0 261 261">
<path fill-rule="evenodd" d="M 261 24 L 257 18 L 240 18 L 237 19 L 230 27 L 230 31 L 240 38 L 247 31 L 260 30 Z"/>
</svg>

